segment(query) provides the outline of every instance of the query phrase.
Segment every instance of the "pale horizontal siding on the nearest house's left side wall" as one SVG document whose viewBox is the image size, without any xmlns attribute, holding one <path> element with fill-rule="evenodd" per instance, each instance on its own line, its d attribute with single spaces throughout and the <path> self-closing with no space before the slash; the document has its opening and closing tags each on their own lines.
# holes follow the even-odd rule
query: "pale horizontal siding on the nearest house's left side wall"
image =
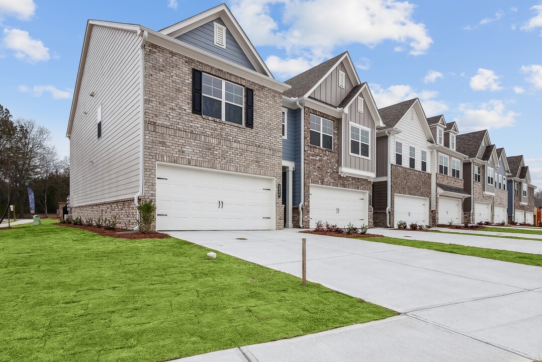
<svg viewBox="0 0 542 362">
<path fill-rule="evenodd" d="M 74 206 L 130 198 L 139 190 L 140 42 L 135 32 L 92 29 L 70 137 Z"/>
</svg>

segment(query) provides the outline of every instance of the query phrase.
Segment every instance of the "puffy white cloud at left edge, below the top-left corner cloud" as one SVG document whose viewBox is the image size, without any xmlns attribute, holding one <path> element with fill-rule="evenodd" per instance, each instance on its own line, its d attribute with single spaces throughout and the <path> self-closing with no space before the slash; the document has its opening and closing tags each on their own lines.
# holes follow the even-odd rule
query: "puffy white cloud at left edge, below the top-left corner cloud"
<svg viewBox="0 0 542 362">
<path fill-rule="evenodd" d="M 30 37 L 28 31 L 4 29 L 4 46 L 15 51 L 15 57 L 30 63 L 50 59 L 49 48 L 41 40 Z"/>
</svg>

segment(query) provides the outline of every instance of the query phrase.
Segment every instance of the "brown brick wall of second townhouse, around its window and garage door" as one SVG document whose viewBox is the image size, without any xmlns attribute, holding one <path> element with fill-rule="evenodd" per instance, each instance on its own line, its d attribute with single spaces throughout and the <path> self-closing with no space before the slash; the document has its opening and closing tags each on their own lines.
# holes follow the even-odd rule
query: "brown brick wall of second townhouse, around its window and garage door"
<svg viewBox="0 0 542 362">
<path fill-rule="evenodd" d="M 311 113 L 333 121 L 333 150 L 327 150 L 311 145 Z M 310 223 L 311 197 L 309 195 L 310 185 L 335 186 L 338 188 L 369 191 L 369 198 L 372 196 L 372 182 L 357 177 L 342 177 L 339 174 L 339 147 L 340 118 L 331 117 L 328 114 L 316 111 L 315 109 L 305 107 L 304 116 L 304 204 L 303 204 L 303 227 L 308 228 Z M 372 206 L 369 205 L 369 227 L 373 227 Z M 299 214 L 295 215 L 298 223 L 294 221 L 294 227 L 299 226 Z"/>
</svg>

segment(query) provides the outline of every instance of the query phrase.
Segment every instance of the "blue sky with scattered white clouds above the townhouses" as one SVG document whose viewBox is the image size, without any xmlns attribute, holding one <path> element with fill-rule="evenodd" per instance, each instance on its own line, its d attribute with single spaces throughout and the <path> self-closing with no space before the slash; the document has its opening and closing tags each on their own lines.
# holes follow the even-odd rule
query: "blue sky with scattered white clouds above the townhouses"
<svg viewBox="0 0 542 362">
<path fill-rule="evenodd" d="M 0 104 L 51 131 L 66 125 L 87 19 L 162 29 L 220 2 L 0 0 Z M 276 78 L 348 50 L 378 107 L 420 97 L 460 132 L 489 129 L 524 154 L 542 186 L 542 2 L 234 0 L 237 20 Z"/>
</svg>

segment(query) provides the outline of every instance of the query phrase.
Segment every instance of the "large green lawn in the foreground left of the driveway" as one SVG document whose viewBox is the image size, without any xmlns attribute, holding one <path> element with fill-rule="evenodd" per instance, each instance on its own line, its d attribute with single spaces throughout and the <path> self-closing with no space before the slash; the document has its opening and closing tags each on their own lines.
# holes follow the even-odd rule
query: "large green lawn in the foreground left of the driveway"
<svg viewBox="0 0 542 362">
<path fill-rule="evenodd" d="M 175 238 L 0 230 L 0 360 L 162 361 L 396 315 Z"/>
</svg>

